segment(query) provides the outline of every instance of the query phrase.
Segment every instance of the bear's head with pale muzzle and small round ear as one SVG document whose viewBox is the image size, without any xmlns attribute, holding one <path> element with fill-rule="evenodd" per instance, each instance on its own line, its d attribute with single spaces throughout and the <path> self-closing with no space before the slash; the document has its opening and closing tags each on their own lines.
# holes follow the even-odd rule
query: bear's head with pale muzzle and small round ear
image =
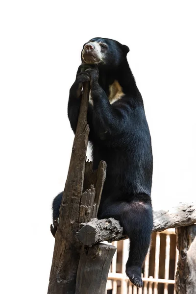
<svg viewBox="0 0 196 294">
<path fill-rule="evenodd" d="M 97 37 L 84 44 L 81 59 L 86 64 L 116 67 L 126 59 L 128 52 L 129 48 L 118 41 Z"/>
</svg>

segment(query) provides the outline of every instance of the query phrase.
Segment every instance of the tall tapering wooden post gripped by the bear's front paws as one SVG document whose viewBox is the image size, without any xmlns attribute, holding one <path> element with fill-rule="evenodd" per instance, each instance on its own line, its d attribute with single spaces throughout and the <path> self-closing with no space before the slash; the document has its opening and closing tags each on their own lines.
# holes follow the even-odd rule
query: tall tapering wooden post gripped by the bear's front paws
<svg viewBox="0 0 196 294">
<path fill-rule="evenodd" d="M 89 126 L 87 109 L 89 83 L 83 95 L 73 141 L 72 156 L 60 207 L 59 225 L 55 235 L 54 253 L 49 277 L 48 294 L 74 294 L 81 244 L 75 234 L 80 224 L 80 201 L 83 192 Z"/>
</svg>

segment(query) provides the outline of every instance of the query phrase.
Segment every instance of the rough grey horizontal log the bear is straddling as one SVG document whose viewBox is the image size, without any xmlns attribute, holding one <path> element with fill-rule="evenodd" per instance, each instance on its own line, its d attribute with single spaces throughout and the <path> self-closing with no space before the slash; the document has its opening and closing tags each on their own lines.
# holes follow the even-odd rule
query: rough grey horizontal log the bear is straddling
<svg viewBox="0 0 196 294">
<path fill-rule="evenodd" d="M 161 232 L 169 228 L 191 225 L 196 222 L 196 202 L 179 202 L 168 210 L 153 211 L 154 226 L 152 232 Z M 77 238 L 84 245 L 92 246 L 102 241 L 119 241 L 126 239 L 119 221 L 110 218 L 92 219 L 81 224 Z"/>
</svg>

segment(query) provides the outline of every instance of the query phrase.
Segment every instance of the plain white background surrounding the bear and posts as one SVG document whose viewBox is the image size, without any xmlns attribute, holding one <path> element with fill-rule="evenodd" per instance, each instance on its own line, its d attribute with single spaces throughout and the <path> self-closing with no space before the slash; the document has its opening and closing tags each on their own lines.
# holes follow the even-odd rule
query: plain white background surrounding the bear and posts
<svg viewBox="0 0 196 294">
<path fill-rule="evenodd" d="M 0 293 L 47 293 L 50 206 L 73 143 L 69 89 L 93 37 L 130 48 L 152 137 L 154 207 L 196 197 L 194 2 L 0 2 Z"/>
</svg>

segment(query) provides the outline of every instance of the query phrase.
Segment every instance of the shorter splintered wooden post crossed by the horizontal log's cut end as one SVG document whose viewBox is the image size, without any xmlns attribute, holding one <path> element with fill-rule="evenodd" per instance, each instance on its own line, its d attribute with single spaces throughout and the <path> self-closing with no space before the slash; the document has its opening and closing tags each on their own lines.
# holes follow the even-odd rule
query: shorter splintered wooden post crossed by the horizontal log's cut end
<svg viewBox="0 0 196 294">
<path fill-rule="evenodd" d="M 105 162 L 99 163 L 96 173 L 92 171 L 92 163 L 87 162 L 84 186 L 88 187 L 90 183 L 93 183 L 96 189 L 92 195 L 89 195 L 89 190 L 82 194 L 80 222 L 97 217 L 105 173 Z M 92 190 L 93 186 L 91 185 Z M 106 244 L 97 244 L 92 247 L 82 246 L 75 294 L 105 294 L 107 276 L 115 251 L 115 246 Z"/>
</svg>

